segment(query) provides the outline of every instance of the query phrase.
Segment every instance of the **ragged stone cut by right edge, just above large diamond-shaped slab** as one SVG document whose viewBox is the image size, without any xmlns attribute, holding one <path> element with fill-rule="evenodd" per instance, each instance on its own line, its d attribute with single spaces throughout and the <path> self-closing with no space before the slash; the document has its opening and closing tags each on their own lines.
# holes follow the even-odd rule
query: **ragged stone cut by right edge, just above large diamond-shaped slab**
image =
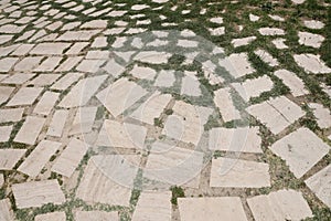
<svg viewBox="0 0 331 221">
<path fill-rule="evenodd" d="M 321 128 L 331 127 L 331 113 L 323 105 L 318 103 L 310 103 L 308 106 L 312 109 L 313 115 L 317 118 L 317 123 Z"/>
</svg>

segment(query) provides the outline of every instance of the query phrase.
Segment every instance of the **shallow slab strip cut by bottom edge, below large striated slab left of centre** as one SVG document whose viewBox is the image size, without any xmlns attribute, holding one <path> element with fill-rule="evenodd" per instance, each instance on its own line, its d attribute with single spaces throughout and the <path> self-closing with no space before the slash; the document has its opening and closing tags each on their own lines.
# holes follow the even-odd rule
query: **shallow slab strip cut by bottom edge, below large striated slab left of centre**
<svg viewBox="0 0 331 221">
<path fill-rule="evenodd" d="M 76 211 L 75 220 L 77 221 L 119 221 L 117 211 Z"/>
</svg>

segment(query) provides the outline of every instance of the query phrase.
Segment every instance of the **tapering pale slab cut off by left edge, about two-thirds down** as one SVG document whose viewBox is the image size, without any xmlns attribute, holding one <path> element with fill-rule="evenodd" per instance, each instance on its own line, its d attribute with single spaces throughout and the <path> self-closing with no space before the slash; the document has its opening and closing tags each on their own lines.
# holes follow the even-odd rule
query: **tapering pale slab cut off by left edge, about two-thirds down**
<svg viewBox="0 0 331 221">
<path fill-rule="evenodd" d="M 0 149 L 0 170 L 11 170 L 25 151 L 25 149 Z"/>
</svg>

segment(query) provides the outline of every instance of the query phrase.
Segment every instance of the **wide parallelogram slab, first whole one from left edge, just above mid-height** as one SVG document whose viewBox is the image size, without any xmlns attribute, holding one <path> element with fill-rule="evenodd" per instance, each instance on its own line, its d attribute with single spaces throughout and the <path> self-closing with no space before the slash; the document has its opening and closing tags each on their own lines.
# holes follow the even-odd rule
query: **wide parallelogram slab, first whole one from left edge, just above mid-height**
<svg viewBox="0 0 331 221">
<path fill-rule="evenodd" d="M 41 87 L 22 87 L 6 106 L 32 105 L 42 91 Z"/>
</svg>

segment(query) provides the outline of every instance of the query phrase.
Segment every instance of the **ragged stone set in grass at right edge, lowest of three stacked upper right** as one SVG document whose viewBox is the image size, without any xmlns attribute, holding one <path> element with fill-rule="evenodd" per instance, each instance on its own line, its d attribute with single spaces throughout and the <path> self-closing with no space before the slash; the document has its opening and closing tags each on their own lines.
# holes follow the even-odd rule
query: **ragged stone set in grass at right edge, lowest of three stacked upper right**
<svg viewBox="0 0 331 221">
<path fill-rule="evenodd" d="M 295 61 L 301 66 L 306 72 L 313 74 L 325 74 L 331 73 L 331 69 L 328 67 L 323 61 L 321 61 L 320 55 L 314 54 L 295 54 Z"/>
</svg>

